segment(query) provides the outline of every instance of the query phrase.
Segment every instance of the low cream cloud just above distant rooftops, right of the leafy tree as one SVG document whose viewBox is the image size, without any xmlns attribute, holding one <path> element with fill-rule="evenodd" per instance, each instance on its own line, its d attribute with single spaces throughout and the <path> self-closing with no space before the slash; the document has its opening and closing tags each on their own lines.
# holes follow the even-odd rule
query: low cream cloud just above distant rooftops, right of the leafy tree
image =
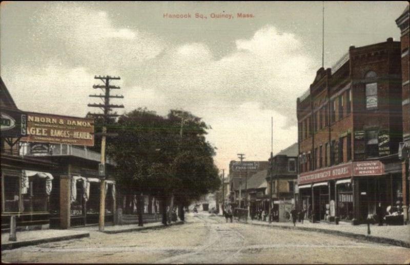
<svg viewBox="0 0 410 265">
<path fill-rule="evenodd" d="M 237 160 L 237 153 L 244 153 L 246 160 L 260 161 L 269 158 L 271 117 L 274 117 L 274 153 L 297 141 L 297 127 L 283 129 L 286 117 L 277 111 L 262 109 L 260 103 L 224 106 L 218 113 L 206 109 L 205 113 L 202 111 L 201 117 L 212 126 L 207 138 L 218 148 L 215 162 L 220 169 L 228 170 L 229 161 Z"/>
</svg>

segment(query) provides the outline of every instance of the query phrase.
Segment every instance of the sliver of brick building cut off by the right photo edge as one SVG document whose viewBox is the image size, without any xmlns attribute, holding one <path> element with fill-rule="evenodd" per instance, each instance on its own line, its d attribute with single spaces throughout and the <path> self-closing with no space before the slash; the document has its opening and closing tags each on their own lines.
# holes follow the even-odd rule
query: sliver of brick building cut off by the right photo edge
<svg viewBox="0 0 410 265">
<path fill-rule="evenodd" d="M 409 167 L 410 167 L 410 85 L 409 85 L 409 10 L 408 6 L 396 19 L 401 31 L 401 73 L 402 73 L 402 110 L 403 110 L 403 142 L 400 143 L 399 157 L 402 160 L 403 208 L 406 220 L 409 220 Z"/>
</svg>

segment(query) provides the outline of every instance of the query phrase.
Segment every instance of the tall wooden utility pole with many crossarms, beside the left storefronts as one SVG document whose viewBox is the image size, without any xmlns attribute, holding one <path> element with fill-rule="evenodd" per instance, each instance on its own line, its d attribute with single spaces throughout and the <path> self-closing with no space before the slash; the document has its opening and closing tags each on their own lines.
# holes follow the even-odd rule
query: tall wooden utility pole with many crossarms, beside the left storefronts
<svg viewBox="0 0 410 265">
<path fill-rule="evenodd" d="M 107 134 L 107 121 L 109 120 L 110 117 L 117 117 L 120 116 L 118 114 L 110 114 L 110 111 L 113 108 L 124 108 L 124 105 L 114 105 L 110 104 L 110 98 L 124 98 L 122 95 L 115 95 L 112 96 L 110 95 L 110 90 L 111 89 L 120 89 L 120 87 L 117 86 L 111 86 L 110 85 L 110 80 L 119 80 L 120 77 L 111 77 L 109 75 L 107 76 L 94 76 L 94 79 L 100 79 L 101 81 L 104 82 L 104 85 L 94 85 L 94 89 L 101 89 L 105 93 L 104 94 L 99 94 L 99 95 L 90 95 L 90 97 L 99 97 L 103 99 L 104 103 L 103 104 L 88 104 L 88 107 L 94 107 L 94 108 L 101 108 L 101 110 L 104 111 L 104 113 L 89 113 L 89 115 L 92 115 L 94 117 L 103 117 L 103 132 L 102 133 L 96 133 L 94 135 L 101 135 L 101 164 L 99 165 L 98 172 L 100 176 L 100 202 L 99 202 L 99 219 L 98 219 L 98 229 L 99 231 L 104 231 L 104 223 L 105 223 L 105 209 L 106 209 L 106 190 L 105 190 L 105 177 L 106 177 L 106 136 L 115 136 L 114 134 Z M 114 206 L 115 207 L 115 206 Z M 114 209 L 115 213 L 115 209 Z"/>
</svg>

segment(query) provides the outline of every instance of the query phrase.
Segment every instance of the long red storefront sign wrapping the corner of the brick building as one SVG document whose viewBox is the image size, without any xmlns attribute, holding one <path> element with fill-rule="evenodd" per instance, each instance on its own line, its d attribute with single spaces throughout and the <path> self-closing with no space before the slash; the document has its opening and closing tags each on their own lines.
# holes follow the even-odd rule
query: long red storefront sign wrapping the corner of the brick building
<svg viewBox="0 0 410 265">
<path fill-rule="evenodd" d="M 326 169 L 302 173 L 299 176 L 299 185 L 330 179 L 383 174 L 384 165 L 381 161 L 347 162 Z"/>
</svg>

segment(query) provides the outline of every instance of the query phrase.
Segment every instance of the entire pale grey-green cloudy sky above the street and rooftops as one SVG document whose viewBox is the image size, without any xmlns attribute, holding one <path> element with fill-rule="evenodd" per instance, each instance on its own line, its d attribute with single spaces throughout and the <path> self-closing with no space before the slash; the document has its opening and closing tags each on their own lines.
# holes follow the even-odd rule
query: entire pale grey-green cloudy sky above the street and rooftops
<svg viewBox="0 0 410 265">
<path fill-rule="evenodd" d="M 324 2 L 324 67 L 351 45 L 399 41 L 406 5 Z M 269 158 L 271 117 L 274 154 L 297 141 L 296 100 L 321 66 L 322 2 L 0 6 L 0 74 L 19 109 L 85 116 L 94 76 L 120 76 L 124 111 L 183 109 L 209 124 L 226 171 L 238 153 Z"/>
</svg>

